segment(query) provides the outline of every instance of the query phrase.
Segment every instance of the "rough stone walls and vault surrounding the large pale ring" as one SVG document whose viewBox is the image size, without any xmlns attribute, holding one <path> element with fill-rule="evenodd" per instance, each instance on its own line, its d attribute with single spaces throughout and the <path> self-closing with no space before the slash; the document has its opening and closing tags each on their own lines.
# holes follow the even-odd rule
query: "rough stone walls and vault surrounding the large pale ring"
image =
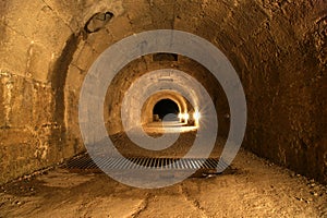
<svg viewBox="0 0 327 218">
<path fill-rule="evenodd" d="M 2 144 L 7 149 L 27 142 L 26 154 L 36 158 L 31 165 L 23 158 L 20 169 L 3 172 L 0 181 L 83 149 L 76 106 L 89 66 L 116 41 L 159 28 L 204 37 L 230 60 L 249 105 L 245 146 L 326 181 L 326 8 L 324 0 L 0 1 Z M 86 23 L 99 12 L 113 17 L 102 29 L 86 33 Z M 181 62 L 136 62 L 126 69 L 131 77 L 122 76 L 122 89 L 142 75 L 137 68 L 187 70 Z M 206 75 L 192 74 L 210 84 Z M 8 140 L 17 133 L 22 136 Z M 8 156 L 9 164 L 15 161 Z"/>
</svg>

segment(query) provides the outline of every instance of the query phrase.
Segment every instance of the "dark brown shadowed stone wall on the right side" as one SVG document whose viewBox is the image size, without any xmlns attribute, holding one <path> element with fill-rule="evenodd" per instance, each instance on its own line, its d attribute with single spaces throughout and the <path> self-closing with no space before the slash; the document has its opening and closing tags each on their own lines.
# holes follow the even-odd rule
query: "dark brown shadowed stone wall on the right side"
<svg viewBox="0 0 327 218">
<path fill-rule="evenodd" d="M 264 7 L 270 19 L 239 47 L 249 70 L 241 74 L 249 104 L 244 146 L 326 182 L 326 25 L 316 36 L 326 1 Z"/>
</svg>

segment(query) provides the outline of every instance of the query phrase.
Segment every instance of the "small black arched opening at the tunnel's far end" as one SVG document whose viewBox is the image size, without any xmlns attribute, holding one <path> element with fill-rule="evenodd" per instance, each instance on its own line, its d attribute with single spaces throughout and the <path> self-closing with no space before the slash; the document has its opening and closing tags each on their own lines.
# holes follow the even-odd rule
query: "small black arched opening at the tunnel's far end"
<svg viewBox="0 0 327 218">
<path fill-rule="evenodd" d="M 165 120 L 178 121 L 179 112 L 180 112 L 179 106 L 173 100 L 171 100 L 171 99 L 159 100 L 155 105 L 154 110 L 153 110 L 154 122 L 162 121 L 162 119 L 167 114 L 170 114 L 170 116 L 166 117 Z"/>
</svg>

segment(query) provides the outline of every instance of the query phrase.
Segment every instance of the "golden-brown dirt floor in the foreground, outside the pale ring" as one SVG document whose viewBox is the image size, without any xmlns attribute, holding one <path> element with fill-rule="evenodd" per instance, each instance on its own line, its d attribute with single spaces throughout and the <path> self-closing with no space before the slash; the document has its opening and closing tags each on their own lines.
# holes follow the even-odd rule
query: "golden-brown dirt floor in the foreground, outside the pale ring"
<svg viewBox="0 0 327 218">
<path fill-rule="evenodd" d="M 327 218 L 327 186 L 243 149 L 222 174 L 154 190 L 62 165 L 2 185 L 0 217 Z"/>
</svg>

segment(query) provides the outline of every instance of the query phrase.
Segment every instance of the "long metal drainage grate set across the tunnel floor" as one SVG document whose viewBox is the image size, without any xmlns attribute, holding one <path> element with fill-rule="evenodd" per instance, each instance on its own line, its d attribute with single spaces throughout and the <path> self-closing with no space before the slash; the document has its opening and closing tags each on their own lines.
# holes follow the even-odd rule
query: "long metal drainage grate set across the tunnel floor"
<svg viewBox="0 0 327 218">
<path fill-rule="evenodd" d="M 102 169 L 141 169 L 142 167 L 152 167 L 156 169 L 177 169 L 177 170 L 195 170 L 195 169 L 217 169 L 223 167 L 219 159 L 214 158 L 104 158 L 97 157 L 96 162 Z M 134 164 L 134 165 L 133 165 Z M 69 169 L 98 169 L 97 165 L 89 157 L 80 157 L 69 160 L 65 164 Z"/>
</svg>

